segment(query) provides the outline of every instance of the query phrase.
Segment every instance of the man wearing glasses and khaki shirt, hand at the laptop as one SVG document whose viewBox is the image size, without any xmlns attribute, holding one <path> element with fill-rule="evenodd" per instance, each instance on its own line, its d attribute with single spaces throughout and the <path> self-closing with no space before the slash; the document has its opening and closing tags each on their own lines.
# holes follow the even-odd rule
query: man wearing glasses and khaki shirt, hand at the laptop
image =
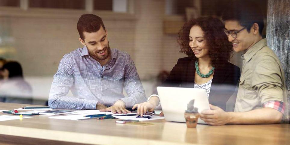
<svg viewBox="0 0 290 145">
<path fill-rule="evenodd" d="M 211 105 L 200 117 L 210 125 L 288 123 L 285 76 L 279 58 L 262 38 L 263 14 L 253 1 L 235 1 L 224 11 L 224 32 L 243 52 L 235 111 Z"/>
</svg>

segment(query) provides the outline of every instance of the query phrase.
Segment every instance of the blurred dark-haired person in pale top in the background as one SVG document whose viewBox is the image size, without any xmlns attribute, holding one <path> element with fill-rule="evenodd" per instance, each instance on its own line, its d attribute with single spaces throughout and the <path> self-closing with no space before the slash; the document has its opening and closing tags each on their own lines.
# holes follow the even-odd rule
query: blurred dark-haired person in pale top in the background
<svg viewBox="0 0 290 145">
<path fill-rule="evenodd" d="M 0 81 L 2 102 L 32 104 L 32 88 L 24 80 L 22 67 L 17 61 L 6 62 L 0 74 L 3 77 Z"/>
</svg>

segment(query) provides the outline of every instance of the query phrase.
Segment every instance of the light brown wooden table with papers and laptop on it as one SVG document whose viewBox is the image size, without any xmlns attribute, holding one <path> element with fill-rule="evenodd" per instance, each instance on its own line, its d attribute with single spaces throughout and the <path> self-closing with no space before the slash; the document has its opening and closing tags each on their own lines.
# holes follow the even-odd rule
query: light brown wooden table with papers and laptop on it
<svg viewBox="0 0 290 145">
<path fill-rule="evenodd" d="M 0 109 L 11 110 L 23 104 L 0 103 Z M 11 115 L 0 113 L 0 115 Z M 198 124 L 188 129 L 185 123 L 165 120 L 148 121 L 150 126 L 115 123 L 106 120 L 60 120 L 49 115 L 34 118 L 0 121 L 2 144 L 290 144 L 290 125 L 225 125 Z"/>
</svg>

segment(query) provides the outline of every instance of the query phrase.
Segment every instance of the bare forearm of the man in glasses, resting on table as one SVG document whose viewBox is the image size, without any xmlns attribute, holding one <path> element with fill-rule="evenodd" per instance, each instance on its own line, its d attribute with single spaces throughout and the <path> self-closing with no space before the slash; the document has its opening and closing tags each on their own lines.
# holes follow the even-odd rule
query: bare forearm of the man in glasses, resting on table
<svg viewBox="0 0 290 145">
<path fill-rule="evenodd" d="M 273 108 L 261 108 L 248 112 L 227 112 L 228 124 L 272 124 L 280 123 L 283 114 Z"/>
</svg>

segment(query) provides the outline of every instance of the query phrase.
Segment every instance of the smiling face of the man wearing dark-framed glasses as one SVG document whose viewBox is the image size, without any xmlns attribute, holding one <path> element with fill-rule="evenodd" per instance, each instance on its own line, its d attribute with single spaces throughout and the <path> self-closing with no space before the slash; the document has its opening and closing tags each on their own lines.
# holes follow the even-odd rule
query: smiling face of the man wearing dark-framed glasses
<svg viewBox="0 0 290 145">
<path fill-rule="evenodd" d="M 225 28 L 229 31 L 238 31 L 243 26 L 239 25 L 238 21 L 235 20 L 227 20 L 225 21 Z M 233 43 L 233 50 L 235 52 L 246 51 L 248 48 L 255 44 L 255 35 L 252 34 L 252 28 L 250 33 L 248 33 L 247 29 L 244 29 L 237 33 L 237 37 L 234 38 L 232 35 L 229 35 L 229 41 Z"/>
</svg>

